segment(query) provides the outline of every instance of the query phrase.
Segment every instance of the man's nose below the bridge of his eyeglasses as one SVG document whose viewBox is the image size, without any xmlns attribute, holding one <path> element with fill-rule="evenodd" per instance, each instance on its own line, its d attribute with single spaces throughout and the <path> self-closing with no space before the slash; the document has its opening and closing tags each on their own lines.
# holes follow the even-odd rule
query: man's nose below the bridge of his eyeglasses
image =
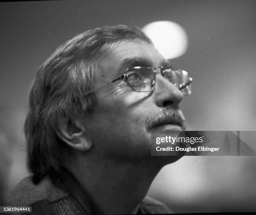
<svg viewBox="0 0 256 215">
<path fill-rule="evenodd" d="M 154 96 L 159 107 L 177 107 L 183 99 L 182 92 L 161 74 L 156 75 Z"/>
</svg>

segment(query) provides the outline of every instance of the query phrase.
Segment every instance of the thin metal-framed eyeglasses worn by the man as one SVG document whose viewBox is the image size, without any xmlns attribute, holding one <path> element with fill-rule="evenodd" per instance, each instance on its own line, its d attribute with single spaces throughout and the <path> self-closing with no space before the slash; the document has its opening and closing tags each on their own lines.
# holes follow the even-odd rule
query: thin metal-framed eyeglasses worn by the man
<svg viewBox="0 0 256 215">
<path fill-rule="evenodd" d="M 191 94 L 192 77 L 189 77 L 188 72 L 185 70 L 173 70 L 166 69 L 164 67 L 157 66 L 154 69 L 151 67 L 131 67 L 128 68 L 124 75 L 116 78 L 112 82 L 97 87 L 96 89 L 87 92 L 85 95 L 89 95 L 92 92 L 100 90 L 118 80 L 127 81 L 132 90 L 136 92 L 151 92 L 155 88 L 156 74 L 160 73 L 175 87 L 177 87 L 183 95 Z"/>
</svg>

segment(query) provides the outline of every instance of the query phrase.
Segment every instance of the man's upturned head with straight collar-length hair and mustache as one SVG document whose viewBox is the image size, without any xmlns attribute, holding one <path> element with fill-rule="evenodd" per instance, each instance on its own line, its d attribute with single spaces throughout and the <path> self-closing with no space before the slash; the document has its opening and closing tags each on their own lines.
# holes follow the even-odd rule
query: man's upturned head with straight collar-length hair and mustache
<svg viewBox="0 0 256 215">
<path fill-rule="evenodd" d="M 148 159 L 152 131 L 184 129 L 182 92 L 160 73 L 150 92 L 120 79 L 87 94 L 127 68 L 156 66 L 169 67 L 143 32 L 123 25 L 89 30 L 59 47 L 38 69 L 29 96 L 25 133 L 35 180 L 76 153 Z"/>
</svg>

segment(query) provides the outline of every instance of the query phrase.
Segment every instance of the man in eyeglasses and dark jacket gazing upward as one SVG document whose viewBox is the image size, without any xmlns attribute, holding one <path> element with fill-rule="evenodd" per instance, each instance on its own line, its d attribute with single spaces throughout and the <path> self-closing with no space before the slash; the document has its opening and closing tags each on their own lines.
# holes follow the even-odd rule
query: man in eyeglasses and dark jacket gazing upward
<svg viewBox="0 0 256 215">
<path fill-rule="evenodd" d="M 61 45 L 31 87 L 25 134 L 33 175 L 10 204 L 38 214 L 169 213 L 145 196 L 159 170 L 180 158 L 151 156 L 151 132 L 184 130 L 179 103 L 189 84 L 175 86 L 179 71 L 124 25 Z"/>
</svg>

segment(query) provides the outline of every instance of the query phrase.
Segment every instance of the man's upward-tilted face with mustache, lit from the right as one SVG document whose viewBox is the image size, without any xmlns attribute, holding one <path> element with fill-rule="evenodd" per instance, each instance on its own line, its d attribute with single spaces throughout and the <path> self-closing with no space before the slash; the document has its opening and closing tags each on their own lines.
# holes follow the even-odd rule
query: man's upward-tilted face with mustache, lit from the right
<svg viewBox="0 0 256 215">
<path fill-rule="evenodd" d="M 146 42 L 120 42 L 102 57 L 95 87 L 125 74 L 128 67 L 154 68 L 164 62 L 155 47 Z M 133 91 L 122 80 L 95 93 L 97 105 L 84 118 L 84 125 L 99 156 L 117 160 L 150 158 L 151 132 L 162 135 L 184 129 L 179 110 L 182 92 L 161 74 L 156 74 L 152 92 Z"/>
</svg>

